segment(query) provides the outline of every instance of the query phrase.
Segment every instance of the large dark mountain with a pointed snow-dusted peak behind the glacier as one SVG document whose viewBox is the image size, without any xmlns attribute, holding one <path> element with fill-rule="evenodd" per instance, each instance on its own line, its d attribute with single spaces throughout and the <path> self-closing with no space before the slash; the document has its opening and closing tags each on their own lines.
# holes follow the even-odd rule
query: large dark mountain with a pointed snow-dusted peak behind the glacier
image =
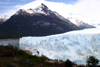
<svg viewBox="0 0 100 67">
<path fill-rule="evenodd" d="M 20 9 L 1 24 L 0 38 L 47 36 L 77 29 L 76 25 L 42 3 L 36 9 Z"/>
</svg>

